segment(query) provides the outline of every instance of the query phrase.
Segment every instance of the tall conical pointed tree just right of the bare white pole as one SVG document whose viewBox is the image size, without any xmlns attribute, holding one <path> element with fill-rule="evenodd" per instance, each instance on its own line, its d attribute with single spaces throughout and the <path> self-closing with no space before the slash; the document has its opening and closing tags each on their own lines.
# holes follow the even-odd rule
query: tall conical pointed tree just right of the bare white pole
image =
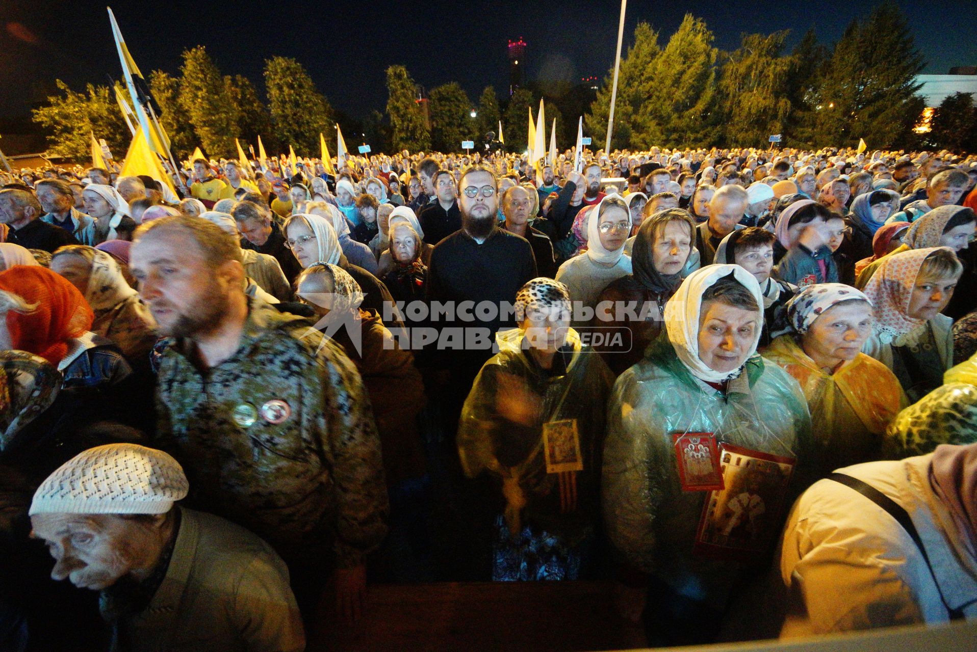
<svg viewBox="0 0 977 652">
<path fill-rule="evenodd" d="M 686 14 L 647 72 L 650 84 L 636 111 L 642 130 L 632 145 L 708 146 L 721 133 L 716 110 L 718 51 L 705 22 Z"/>
</svg>

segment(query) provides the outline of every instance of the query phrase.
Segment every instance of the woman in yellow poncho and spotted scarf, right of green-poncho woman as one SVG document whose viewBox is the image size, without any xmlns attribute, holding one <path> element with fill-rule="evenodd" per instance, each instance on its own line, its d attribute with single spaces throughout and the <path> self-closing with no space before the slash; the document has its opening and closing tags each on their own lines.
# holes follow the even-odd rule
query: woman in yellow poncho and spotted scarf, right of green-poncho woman
<svg viewBox="0 0 977 652">
<path fill-rule="evenodd" d="M 807 397 L 820 475 L 878 459 L 879 437 L 907 401 L 884 364 L 861 352 L 871 335 L 869 299 L 848 285 L 823 283 L 787 303 L 791 333 L 763 356 L 785 369 Z"/>
</svg>

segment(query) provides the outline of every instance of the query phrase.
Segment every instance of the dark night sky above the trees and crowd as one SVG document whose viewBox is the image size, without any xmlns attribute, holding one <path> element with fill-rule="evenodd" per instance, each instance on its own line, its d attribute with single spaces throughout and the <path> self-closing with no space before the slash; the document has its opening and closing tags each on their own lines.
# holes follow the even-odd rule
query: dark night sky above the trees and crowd
<svg viewBox="0 0 977 652">
<path fill-rule="evenodd" d="M 915 32 L 925 72 L 977 64 L 972 0 L 900 2 Z M 742 32 L 790 29 L 788 46 L 811 26 L 831 42 L 846 24 L 868 15 L 873 2 L 680 3 L 631 0 L 624 47 L 638 20 L 667 40 L 687 7 L 716 35 L 716 47 L 732 50 Z M 743 14 L 739 8 L 749 7 Z M 263 92 L 266 58 L 302 62 L 338 109 L 361 117 L 383 110 L 384 70 L 403 63 L 429 90 L 458 81 L 473 102 L 493 84 L 508 88 L 506 41 L 528 43 L 528 78 L 603 78 L 614 61 L 619 4 L 616 0 L 564 2 L 187 2 L 114 0 L 112 10 L 144 74 L 179 71 L 180 54 L 201 44 L 225 74 L 244 74 Z M 0 117 L 27 113 L 64 79 L 106 84 L 119 62 L 103 5 L 64 0 L 0 0 Z"/>
</svg>

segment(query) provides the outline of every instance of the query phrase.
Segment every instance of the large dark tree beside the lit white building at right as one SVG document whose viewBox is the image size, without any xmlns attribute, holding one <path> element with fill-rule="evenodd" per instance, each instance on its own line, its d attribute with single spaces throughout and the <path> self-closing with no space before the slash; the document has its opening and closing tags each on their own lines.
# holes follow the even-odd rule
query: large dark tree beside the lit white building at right
<svg viewBox="0 0 977 652">
<path fill-rule="evenodd" d="M 817 76 L 808 141 L 897 147 L 923 108 L 915 75 L 923 60 L 906 18 L 887 2 L 865 22 L 853 20 Z"/>
</svg>

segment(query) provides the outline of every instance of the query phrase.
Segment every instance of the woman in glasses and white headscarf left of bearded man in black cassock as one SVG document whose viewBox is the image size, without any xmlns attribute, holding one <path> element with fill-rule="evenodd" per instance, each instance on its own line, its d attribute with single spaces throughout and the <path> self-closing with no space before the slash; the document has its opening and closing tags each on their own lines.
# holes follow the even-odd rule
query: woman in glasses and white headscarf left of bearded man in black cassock
<svg viewBox="0 0 977 652">
<path fill-rule="evenodd" d="M 292 250 L 299 265 L 303 268 L 316 264 L 342 267 L 361 287 L 365 296 L 362 304 L 364 308 L 376 310 L 384 322 L 392 327 L 404 326 L 387 286 L 366 269 L 350 263 L 343 255 L 336 229 L 329 220 L 308 213 L 293 215 L 285 222 L 282 231 L 285 235 L 285 246 Z M 385 306 L 390 306 L 386 312 Z"/>
</svg>

